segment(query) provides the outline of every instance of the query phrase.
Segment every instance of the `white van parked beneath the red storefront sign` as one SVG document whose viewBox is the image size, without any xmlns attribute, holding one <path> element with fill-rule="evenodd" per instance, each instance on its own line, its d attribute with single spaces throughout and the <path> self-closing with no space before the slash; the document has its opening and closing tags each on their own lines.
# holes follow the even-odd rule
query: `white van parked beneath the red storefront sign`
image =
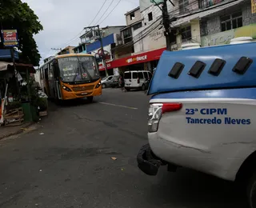
<svg viewBox="0 0 256 208">
<path fill-rule="evenodd" d="M 152 74 L 148 70 L 126 71 L 124 75 L 125 88 L 146 90 L 146 80 L 151 79 Z"/>
</svg>

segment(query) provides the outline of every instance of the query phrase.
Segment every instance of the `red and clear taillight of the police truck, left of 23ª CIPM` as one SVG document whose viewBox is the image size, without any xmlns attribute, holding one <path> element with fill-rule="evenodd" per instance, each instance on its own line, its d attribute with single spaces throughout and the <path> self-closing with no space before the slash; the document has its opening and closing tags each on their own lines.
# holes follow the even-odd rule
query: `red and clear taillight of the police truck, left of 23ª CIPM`
<svg viewBox="0 0 256 208">
<path fill-rule="evenodd" d="M 152 103 L 148 113 L 148 131 L 158 131 L 158 124 L 162 114 L 182 109 L 182 103 Z"/>
</svg>

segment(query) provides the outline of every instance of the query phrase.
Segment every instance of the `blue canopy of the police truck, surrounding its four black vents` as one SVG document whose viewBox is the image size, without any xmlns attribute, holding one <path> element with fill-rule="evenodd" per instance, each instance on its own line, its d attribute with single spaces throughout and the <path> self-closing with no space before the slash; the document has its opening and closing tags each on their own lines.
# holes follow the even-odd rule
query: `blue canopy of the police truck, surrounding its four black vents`
<svg viewBox="0 0 256 208">
<path fill-rule="evenodd" d="M 157 70 L 154 72 L 148 94 L 256 86 L 255 51 L 256 42 L 192 50 L 164 51 L 158 62 Z M 233 68 L 242 57 L 251 58 L 253 62 L 245 74 L 237 74 Z M 214 76 L 209 74 L 208 70 L 217 58 L 225 60 L 226 64 L 221 73 Z M 194 78 L 188 72 L 197 61 L 204 62 L 206 67 L 198 78 Z M 176 62 L 184 64 L 184 68 L 178 78 L 172 78 L 168 74 Z"/>
</svg>

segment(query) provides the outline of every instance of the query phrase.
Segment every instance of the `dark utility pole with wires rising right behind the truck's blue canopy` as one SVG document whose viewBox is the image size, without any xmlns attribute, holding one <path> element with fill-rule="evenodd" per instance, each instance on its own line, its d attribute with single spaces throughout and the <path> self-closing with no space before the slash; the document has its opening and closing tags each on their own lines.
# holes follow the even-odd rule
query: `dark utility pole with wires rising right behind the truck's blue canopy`
<svg viewBox="0 0 256 208">
<path fill-rule="evenodd" d="M 168 7 L 167 7 L 167 1 L 168 0 L 150 0 L 150 2 L 154 3 L 156 6 L 159 7 L 160 10 L 162 10 L 162 23 L 165 27 L 165 36 L 166 36 L 166 50 L 171 51 L 170 46 L 170 15 L 168 14 Z M 169 0 L 169 2 L 174 6 L 174 3 Z M 159 6 L 162 4 L 162 8 Z"/>
</svg>

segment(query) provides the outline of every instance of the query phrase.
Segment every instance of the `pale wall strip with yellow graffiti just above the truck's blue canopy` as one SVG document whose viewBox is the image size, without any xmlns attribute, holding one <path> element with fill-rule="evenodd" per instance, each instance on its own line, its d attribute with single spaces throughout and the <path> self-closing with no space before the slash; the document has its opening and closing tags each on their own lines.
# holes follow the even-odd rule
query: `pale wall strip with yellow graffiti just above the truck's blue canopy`
<svg viewBox="0 0 256 208">
<path fill-rule="evenodd" d="M 229 44 L 232 38 L 238 37 L 252 37 L 256 39 L 256 24 L 242 26 L 237 29 L 228 30 L 218 34 L 202 36 L 201 44 L 202 46 L 224 45 Z"/>
</svg>

